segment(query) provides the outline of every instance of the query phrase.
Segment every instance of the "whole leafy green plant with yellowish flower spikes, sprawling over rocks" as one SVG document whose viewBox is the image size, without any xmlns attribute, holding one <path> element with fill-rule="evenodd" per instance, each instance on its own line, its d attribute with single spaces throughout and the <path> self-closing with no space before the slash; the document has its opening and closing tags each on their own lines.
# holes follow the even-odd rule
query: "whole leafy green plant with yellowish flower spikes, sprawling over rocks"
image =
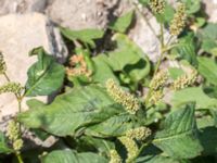
<svg viewBox="0 0 217 163">
<path fill-rule="evenodd" d="M 156 63 L 126 35 L 137 13 L 151 25 L 138 3 L 108 25 L 112 39 L 99 29 L 61 27 L 74 54 L 64 67 L 41 47 L 30 51 L 38 61 L 29 67 L 24 88 L 9 79 L 0 55 L 0 73 L 9 82 L 0 92 L 14 93 L 20 111 L 8 134 L 0 133 L 0 153 L 15 153 L 20 163 L 216 161 L 217 25 L 197 24 L 203 20 L 199 0 L 182 0 L 175 9 L 164 0 L 139 3 L 152 11 L 161 27 Z M 95 40 L 104 39 L 106 43 L 98 46 Z M 178 66 L 162 67 L 165 62 Z M 31 99 L 29 110 L 22 112 L 24 97 L 58 90 L 50 104 Z M 36 147 L 29 154 L 23 127 L 41 140 L 54 136 L 56 143 Z"/>
</svg>

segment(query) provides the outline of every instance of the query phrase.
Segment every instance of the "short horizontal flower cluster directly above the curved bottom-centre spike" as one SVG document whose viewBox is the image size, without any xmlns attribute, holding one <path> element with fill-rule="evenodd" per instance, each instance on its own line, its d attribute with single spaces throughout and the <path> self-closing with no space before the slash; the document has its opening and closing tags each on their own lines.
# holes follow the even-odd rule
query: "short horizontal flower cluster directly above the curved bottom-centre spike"
<svg viewBox="0 0 217 163">
<path fill-rule="evenodd" d="M 126 136 L 136 140 L 145 140 L 152 134 L 151 129 L 148 127 L 138 127 L 129 129 Z"/>
</svg>

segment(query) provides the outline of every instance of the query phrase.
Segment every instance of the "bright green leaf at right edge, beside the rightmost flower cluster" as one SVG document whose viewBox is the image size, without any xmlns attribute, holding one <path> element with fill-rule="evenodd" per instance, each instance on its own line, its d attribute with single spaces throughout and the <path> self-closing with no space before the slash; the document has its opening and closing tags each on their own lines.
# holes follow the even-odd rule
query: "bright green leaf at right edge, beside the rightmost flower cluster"
<svg viewBox="0 0 217 163">
<path fill-rule="evenodd" d="M 208 83 L 217 85 L 217 63 L 213 59 L 205 57 L 197 58 L 199 73 L 207 79 Z"/>
</svg>

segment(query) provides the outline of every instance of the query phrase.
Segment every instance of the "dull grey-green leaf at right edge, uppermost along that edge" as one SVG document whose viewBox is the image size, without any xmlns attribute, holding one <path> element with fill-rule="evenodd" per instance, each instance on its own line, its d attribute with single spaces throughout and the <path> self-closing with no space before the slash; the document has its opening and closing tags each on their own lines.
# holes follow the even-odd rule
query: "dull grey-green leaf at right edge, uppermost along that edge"
<svg viewBox="0 0 217 163">
<path fill-rule="evenodd" d="M 199 38 L 202 41 L 202 49 L 212 52 L 217 47 L 217 24 L 208 23 L 203 29 L 199 30 Z"/>
</svg>

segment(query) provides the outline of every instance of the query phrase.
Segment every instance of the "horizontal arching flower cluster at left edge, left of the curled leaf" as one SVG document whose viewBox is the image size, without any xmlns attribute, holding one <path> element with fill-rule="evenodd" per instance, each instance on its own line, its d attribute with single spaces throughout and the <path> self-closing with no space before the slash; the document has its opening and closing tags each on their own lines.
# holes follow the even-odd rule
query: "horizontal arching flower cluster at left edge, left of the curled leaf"
<svg viewBox="0 0 217 163">
<path fill-rule="evenodd" d="M 0 95 L 4 92 L 13 92 L 20 95 L 24 88 L 18 83 L 8 83 L 0 87 Z"/>
</svg>

